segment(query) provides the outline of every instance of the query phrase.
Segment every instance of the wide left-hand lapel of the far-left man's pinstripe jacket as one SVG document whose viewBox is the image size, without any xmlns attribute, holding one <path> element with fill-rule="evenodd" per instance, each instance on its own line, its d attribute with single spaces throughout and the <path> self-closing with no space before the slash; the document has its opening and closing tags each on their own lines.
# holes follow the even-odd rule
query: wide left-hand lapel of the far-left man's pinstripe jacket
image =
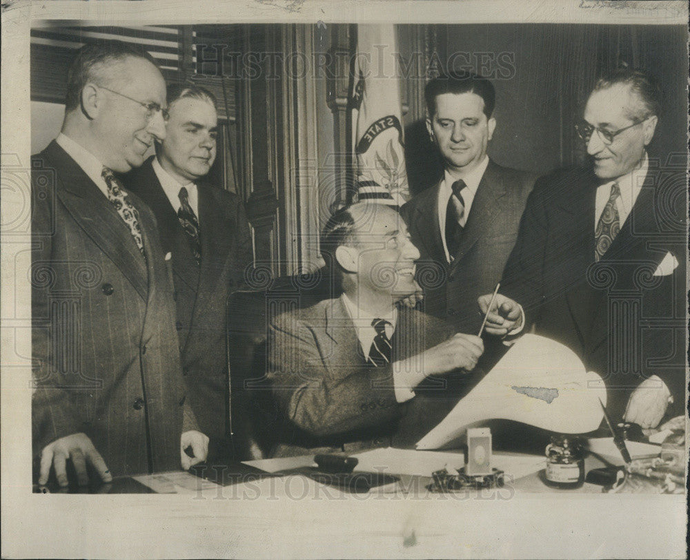
<svg viewBox="0 0 690 560">
<path fill-rule="evenodd" d="M 139 296 L 147 300 L 146 259 L 115 207 L 57 142 L 51 142 L 43 154 L 46 159 L 55 162 L 61 186 L 57 190 L 57 196 L 72 218 L 122 271 Z"/>
</svg>

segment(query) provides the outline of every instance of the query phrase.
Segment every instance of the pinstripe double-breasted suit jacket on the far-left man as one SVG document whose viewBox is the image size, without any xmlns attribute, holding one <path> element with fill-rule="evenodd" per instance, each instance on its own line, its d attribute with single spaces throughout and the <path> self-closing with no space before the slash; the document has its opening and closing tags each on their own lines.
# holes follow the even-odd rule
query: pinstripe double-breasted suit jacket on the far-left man
<svg viewBox="0 0 690 560">
<path fill-rule="evenodd" d="M 179 469 L 184 383 L 155 218 L 134 195 L 146 258 L 56 143 L 32 165 L 34 455 L 85 432 L 115 475 Z M 183 423 L 184 421 L 184 423 Z"/>
</svg>

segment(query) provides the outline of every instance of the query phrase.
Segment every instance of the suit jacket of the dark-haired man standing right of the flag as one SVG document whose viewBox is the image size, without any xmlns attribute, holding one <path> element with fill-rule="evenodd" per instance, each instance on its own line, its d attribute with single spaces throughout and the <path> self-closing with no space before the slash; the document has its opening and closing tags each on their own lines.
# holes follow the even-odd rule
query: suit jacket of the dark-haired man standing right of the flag
<svg viewBox="0 0 690 560">
<path fill-rule="evenodd" d="M 535 178 L 489 160 L 460 247 L 450 264 L 443 250 L 438 215 L 442 181 L 402 207 L 412 240 L 422 254 L 417 262 L 417 282 L 424 290 L 426 313 L 443 318 L 460 332 L 479 330 L 482 316 L 477 298 L 493 292 L 501 278 Z"/>
</svg>

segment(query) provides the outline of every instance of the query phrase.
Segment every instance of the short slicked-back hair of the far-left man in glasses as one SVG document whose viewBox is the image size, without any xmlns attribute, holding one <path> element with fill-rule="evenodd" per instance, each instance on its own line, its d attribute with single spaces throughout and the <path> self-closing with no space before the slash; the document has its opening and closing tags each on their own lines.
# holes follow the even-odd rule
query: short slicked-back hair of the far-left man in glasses
<svg viewBox="0 0 690 560">
<path fill-rule="evenodd" d="M 89 81 L 97 81 L 95 73 L 99 68 L 128 57 L 148 60 L 158 68 L 155 59 L 146 50 L 123 41 L 97 41 L 81 47 L 67 72 L 65 109 L 71 111 L 79 107 L 81 90 Z"/>
</svg>

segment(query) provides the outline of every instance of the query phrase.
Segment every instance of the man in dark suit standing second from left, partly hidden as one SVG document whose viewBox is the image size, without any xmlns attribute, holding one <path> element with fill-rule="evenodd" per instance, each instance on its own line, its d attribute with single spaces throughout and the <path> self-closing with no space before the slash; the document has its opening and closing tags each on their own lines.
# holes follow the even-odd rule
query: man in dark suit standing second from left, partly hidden
<svg viewBox="0 0 690 560">
<path fill-rule="evenodd" d="M 177 334 L 188 398 L 214 443 L 229 436 L 226 300 L 252 262 L 240 197 L 208 184 L 216 156 L 215 98 L 198 86 L 168 88 L 167 135 L 156 155 L 126 177 L 152 209 L 172 253 Z"/>
</svg>

